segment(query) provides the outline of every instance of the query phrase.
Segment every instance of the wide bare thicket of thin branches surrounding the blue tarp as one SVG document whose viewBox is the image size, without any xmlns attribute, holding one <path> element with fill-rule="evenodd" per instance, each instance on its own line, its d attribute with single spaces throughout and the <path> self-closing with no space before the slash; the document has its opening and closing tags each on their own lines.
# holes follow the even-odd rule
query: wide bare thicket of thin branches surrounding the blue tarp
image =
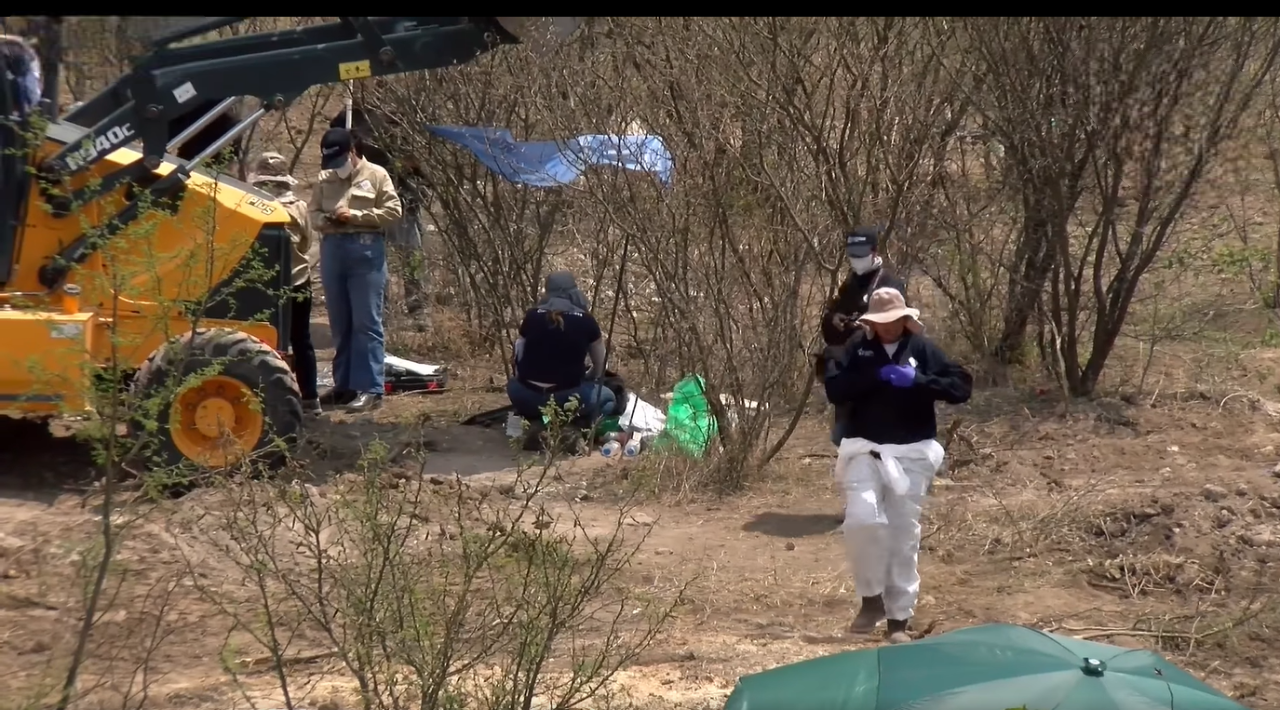
<svg viewBox="0 0 1280 710">
<path fill-rule="evenodd" d="M 721 427 L 716 466 L 735 490 L 804 411 L 817 313 L 842 275 L 841 230 L 909 229 L 922 178 L 941 168 L 964 115 L 925 29 L 614 18 L 552 58 L 486 56 L 466 74 L 384 82 L 379 97 L 388 134 L 431 166 L 452 261 L 436 283 L 466 292 L 460 304 L 484 344 L 503 352 L 540 278 L 575 269 L 636 384 L 666 389 L 700 374 L 722 422 L 744 400 L 768 404 Z M 675 184 L 598 169 L 554 191 L 509 185 L 422 137 L 424 123 L 526 139 L 658 134 L 677 159 Z"/>
</svg>

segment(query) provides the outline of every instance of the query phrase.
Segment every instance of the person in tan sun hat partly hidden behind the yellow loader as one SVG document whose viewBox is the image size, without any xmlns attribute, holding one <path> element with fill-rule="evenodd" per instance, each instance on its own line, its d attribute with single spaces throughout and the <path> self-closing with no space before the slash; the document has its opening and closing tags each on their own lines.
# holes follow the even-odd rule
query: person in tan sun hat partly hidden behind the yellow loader
<svg viewBox="0 0 1280 710">
<path fill-rule="evenodd" d="M 308 414 L 320 413 L 319 385 L 316 383 L 316 348 L 311 343 L 311 260 L 307 252 L 315 241 L 311 229 L 311 214 L 307 203 L 293 194 L 298 184 L 289 174 L 289 164 L 278 152 L 264 152 L 252 162 L 253 173 L 248 182 L 262 192 L 275 197 L 288 212 L 291 221 L 285 228 L 293 247 L 289 265 L 293 288 L 289 293 L 289 349 L 293 352 L 293 374 L 298 379 L 302 393 L 302 411 Z"/>
</svg>

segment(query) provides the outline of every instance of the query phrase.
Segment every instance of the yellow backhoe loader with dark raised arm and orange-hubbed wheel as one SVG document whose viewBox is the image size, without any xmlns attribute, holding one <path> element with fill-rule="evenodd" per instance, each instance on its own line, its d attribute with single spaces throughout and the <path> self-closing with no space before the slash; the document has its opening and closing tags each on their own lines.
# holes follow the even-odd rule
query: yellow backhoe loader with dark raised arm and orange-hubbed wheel
<svg viewBox="0 0 1280 710">
<path fill-rule="evenodd" d="M 206 164 L 312 86 L 559 41 L 584 18 L 343 17 L 192 42 L 244 19 L 195 18 L 154 38 L 132 72 L 63 116 L 59 36 L 44 40 L 33 110 L 18 61 L 0 56 L 0 413 L 83 413 L 97 374 L 127 371 L 134 391 L 164 399 L 148 434 L 164 463 L 279 462 L 303 422 L 284 357 L 288 217 Z M 246 97 L 257 109 L 227 122 Z M 211 110 L 192 120 L 195 106 Z M 211 125 L 227 129 L 179 157 Z"/>
</svg>

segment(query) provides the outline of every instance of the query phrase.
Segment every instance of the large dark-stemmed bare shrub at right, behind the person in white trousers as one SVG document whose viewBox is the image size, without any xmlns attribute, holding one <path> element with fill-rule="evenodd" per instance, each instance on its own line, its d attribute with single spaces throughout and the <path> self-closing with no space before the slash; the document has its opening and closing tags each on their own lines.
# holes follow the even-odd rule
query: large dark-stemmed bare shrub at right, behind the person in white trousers
<svg viewBox="0 0 1280 710">
<path fill-rule="evenodd" d="M 1051 365 L 1092 394 L 1139 293 L 1280 43 L 1267 19 L 938 23 L 1021 192 L 1001 362 L 1042 298 Z"/>
</svg>

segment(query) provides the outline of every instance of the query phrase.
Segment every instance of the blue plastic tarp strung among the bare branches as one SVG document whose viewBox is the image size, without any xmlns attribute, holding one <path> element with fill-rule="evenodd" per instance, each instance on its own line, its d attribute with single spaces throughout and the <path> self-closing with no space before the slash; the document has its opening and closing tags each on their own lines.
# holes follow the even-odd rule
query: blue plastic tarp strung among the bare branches
<svg viewBox="0 0 1280 710">
<path fill-rule="evenodd" d="M 671 184 L 675 161 L 658 136 L 588 134 L 568 141 L 517 141 L 506 128 L 428 125 L 457 143 L 486 168 L 516 184 L 559 187 L 573 183 L 593 165 L 653 173 Z"/>
</svg>

